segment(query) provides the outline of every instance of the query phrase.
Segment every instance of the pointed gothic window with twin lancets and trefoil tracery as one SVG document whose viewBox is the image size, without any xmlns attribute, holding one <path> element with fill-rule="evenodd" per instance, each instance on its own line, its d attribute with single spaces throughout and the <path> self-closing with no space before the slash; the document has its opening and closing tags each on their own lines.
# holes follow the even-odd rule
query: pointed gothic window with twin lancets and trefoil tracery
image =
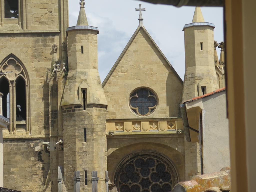
<svg viewBox="0 0 256 192">
<path fill-rule="evenodd" d="M 3 94 L 1 111 L 10 120 L 9 131 L 16 125 L 30 132 L 29 78 L 24 64 L 13 54 L 0 64 L 0 92 Z"/>
</svg>

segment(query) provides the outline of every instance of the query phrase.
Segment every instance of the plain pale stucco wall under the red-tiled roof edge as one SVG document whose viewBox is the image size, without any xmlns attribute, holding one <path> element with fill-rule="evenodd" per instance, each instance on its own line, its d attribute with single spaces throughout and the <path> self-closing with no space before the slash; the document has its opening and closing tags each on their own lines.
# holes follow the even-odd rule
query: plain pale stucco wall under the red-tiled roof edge
<svg viewBox="0 0 256 192">
<path fill-rule="evenodd" d="M 202 101 L 203 170 L 208 174 L 230 166 L 226 91 L 209 95 Z"/>
</svg>

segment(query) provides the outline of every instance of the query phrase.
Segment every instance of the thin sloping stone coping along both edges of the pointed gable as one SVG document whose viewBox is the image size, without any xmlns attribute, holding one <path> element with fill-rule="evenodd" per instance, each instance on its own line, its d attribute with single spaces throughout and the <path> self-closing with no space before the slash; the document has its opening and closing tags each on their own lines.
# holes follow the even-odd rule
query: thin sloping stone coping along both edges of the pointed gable
<svg viewBox="0 0 256 192">
<path fill-rule="evenodd" d="M 175 71 L 175 69 L 172 67 L 172 65 L 170 64 L 170 62 L 167 60 L 167 58 L 164 56 L 163 52 L 159 49 L 159 47 L 156 45 L 155 41 L 152 39 L 152 37 L 150 36 L 150 34 L 147 32 L 147 30 L 145 29 L 144 26 L 139 26 L 136 31 L 134 32 L 134 34 L 132 35 L 131 39 L 129 40 L 129 42 L 127 43 L 127 45 L 125 46 L 124 50 L 122 51 L 121 55 L 119 56 L 119 58 L 116 60 L 115 64 L 113 65 L 113 67 L 111 68 L 111 70 L 109 71 L 108 75 L 106 76 L 106 78 L 104 79 L 103 83 L 102 83 L 102 87 L 104 88 L 105 84 L 107 83 L 107 81 L 109 80 L 109 78 L 111 77 L 112 73 L 114 72 L 115 68 L 118 66 L 119 62 L 121 61 L 121 59 L 123 58 L 124 54 L 126 53 L 126 51 L 128 50 L 128 48 L 130 47 L 130 45 L 132 44 L 133 40 L 135 39 L 136 35 L 138 34 L 140 29 L 143 29 L 144 32 L 146 33 L 146 35 L 148 36 L 148 38 L 152 41 L 153 45 L 156 47 L 156 49 L 159 51 L 159 53 L 162 55 L 162 57 L 164 58 L 164 60 L 166 61 L 166 63 L 169 65 L 170 69 L 173 71 L 173 73 L 176 75 L 176 77 L 179 79 L 179 81 L 183 84 L 183 80 L 179 77 L 178 73 Z"/>
</svg>

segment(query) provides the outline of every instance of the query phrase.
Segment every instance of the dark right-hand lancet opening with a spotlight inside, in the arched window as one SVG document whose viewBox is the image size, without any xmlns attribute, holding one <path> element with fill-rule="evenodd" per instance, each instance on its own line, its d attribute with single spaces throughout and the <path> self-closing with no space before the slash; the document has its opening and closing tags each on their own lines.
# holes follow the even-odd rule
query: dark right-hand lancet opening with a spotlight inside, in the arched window
<svg viewBox="0 0 256 192">
<path fill-rule="evenodd" d="M 26 83 L 22 77 L 16 80 L 16 121 L 26 120 Z"/>
</svg>

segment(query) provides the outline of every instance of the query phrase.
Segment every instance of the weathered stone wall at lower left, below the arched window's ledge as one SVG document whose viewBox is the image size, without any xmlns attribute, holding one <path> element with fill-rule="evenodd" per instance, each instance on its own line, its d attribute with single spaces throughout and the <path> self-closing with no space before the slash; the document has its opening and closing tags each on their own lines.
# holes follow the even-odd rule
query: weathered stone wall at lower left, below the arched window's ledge
<svg viewBox="0 0 256 192">
<path fill-rule="evenodd" d="M 23 192 L 51 191 L 47 140 L 4 140 L 4 187 Z"/>
</svg>

